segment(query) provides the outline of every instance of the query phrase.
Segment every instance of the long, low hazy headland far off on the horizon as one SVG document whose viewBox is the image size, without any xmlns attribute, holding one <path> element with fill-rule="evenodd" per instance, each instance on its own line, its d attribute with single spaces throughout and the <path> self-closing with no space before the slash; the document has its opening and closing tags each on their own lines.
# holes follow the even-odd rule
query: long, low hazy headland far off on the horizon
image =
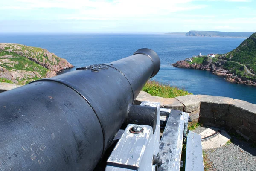
<svg viewBox="0 0 256 171">
<path fill-rule="evenodd" d="M 217 32 L 217 31 L 196 31 L 191 30 L 189 32 L 170 32 L 165 34 L 176 34 L 186 36 L 198 36 L 198 37 L 235 37 L 235 38 L 248 38 L 254 32 Z"/>
</svg>

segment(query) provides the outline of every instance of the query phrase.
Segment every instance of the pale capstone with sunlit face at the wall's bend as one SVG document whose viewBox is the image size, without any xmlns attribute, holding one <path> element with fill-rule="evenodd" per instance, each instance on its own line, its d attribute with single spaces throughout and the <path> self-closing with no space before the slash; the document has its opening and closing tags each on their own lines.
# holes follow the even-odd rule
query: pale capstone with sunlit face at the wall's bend
<svg viewBox="0 0 256 171">
<path fill-rule="evenodd" d="M 200 100 L 195 95 L 186 95 L 175 97 L 184 105 L 184 112 L 193 112 L 200 109 Z"/>
</svg>

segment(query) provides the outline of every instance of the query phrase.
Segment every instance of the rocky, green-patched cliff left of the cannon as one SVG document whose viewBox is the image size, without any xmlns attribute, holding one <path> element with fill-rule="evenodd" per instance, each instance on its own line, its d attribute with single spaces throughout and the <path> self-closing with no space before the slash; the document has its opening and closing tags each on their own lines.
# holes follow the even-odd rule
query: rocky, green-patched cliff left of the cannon
<svg viewBox="0 0 256 171">
<path fill-rule="evenodd" d="M 40 78 L 53 77 L 61 70 L 72 67 L 66 59 L 46 49 L 0 43 L 0 81 L 26 84 Z"/>
</svg>

